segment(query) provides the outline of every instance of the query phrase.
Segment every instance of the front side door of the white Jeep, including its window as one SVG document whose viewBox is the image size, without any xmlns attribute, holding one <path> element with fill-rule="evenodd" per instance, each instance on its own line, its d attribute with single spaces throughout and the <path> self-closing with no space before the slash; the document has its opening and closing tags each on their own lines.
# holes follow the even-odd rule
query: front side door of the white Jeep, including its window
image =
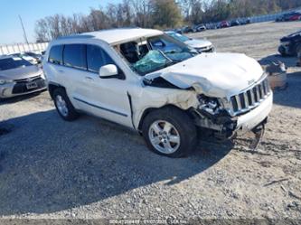
<svg viewBox="0 0 301 225">
<path fill-rule="evenodd" d="M 89 87 L 87 93 L 89 102 L 86 104 L 89 105 L 92 114 L 132 127 L 127 80 L 99 78 L 100 67 L 108 64 L 115 64 L 118 67 L 118 64 L 99 46 L 87 45 L 88 72 L 85 82 Z"/>
</svg>

